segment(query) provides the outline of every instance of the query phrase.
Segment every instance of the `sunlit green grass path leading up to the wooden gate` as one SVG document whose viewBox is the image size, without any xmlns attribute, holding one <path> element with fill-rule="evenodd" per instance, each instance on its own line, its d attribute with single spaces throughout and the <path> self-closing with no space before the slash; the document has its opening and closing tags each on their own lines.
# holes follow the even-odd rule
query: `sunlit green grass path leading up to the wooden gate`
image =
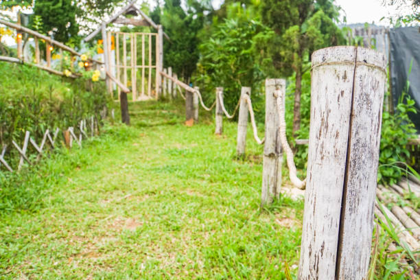
<svg viewBox="0 0 420 280">
<path fill-rule="evenodd" d="M 0 279 L 284 279 L 303 201 L 259 209 L 262 148 L 250 131 L 237 160 L 235 124 L 217 137 L 206 119 L 183 126 L 170 104 L 131 110 L 130 128 L 37 167 L 40 199 L 0 215 Z"/>
</svg>

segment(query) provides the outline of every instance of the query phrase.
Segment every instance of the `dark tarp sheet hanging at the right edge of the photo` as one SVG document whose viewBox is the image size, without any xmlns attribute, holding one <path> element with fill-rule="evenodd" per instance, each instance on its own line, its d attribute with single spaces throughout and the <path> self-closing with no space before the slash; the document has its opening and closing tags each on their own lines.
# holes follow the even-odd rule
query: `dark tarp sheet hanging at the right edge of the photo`
<svg viewBox="0 0 420 280">
<path fill-rule="evenodd" d="M 415 100 L 417 114 L 410 119 L 420 132 L 420 32 L 419 27 L 399 27 L 389 31 L 390 39 L 390 79 L 394 109 L 401 93 L 410 81 L 408 95 Z M 410 65 L 412 63 L 411 72 Z"/>
</svg>

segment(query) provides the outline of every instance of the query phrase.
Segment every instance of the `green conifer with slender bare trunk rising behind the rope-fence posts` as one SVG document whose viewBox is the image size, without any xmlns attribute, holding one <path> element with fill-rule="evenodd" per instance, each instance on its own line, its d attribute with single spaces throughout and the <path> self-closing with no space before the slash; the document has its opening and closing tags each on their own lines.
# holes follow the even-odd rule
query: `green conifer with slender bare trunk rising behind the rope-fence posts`
<svg viewBox="0 0 420 280">
<path fill-rule="evenodd" d="M 342 32 L 334 23 L 338 8 L 334 0 L 265 0 L 261 3 L 261 19 L 273 32 L 261 36 L 257 45 L 270 61 L 268 72 L 281 75 L 296 73 L 294 93 L 293 134 L 301 124 L 302 75 L 304 67 L 316 49 L 345 42 Z"/>
</svg>

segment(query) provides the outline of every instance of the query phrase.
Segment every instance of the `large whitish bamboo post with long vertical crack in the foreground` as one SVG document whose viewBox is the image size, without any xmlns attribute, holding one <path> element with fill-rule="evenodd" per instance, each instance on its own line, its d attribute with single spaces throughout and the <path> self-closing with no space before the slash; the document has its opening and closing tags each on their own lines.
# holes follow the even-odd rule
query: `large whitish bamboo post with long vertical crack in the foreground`
<svg viewBox="0 0 420 280">
<path fill-rule="evenodd" d="M 312 54 L 311 121 L 299 279 L 367 278 L 377 186 L 384 54 Z"/>
</svg>

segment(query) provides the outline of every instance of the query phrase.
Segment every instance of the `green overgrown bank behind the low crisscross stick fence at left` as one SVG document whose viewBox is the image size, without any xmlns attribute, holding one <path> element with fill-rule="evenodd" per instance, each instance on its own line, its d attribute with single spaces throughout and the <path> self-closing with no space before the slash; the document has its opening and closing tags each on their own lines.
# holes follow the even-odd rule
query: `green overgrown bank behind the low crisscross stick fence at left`
<svg viewBox="0 0 420 280">
<path fill-rule="evenodd" d="M 77 126 L 109 103 L 102 82 L 60 78 L 26 65 L 0 63 L 0 147 L 21 142 L 25 130 L 34 139 L 47 128 Z"/>
</svg>

